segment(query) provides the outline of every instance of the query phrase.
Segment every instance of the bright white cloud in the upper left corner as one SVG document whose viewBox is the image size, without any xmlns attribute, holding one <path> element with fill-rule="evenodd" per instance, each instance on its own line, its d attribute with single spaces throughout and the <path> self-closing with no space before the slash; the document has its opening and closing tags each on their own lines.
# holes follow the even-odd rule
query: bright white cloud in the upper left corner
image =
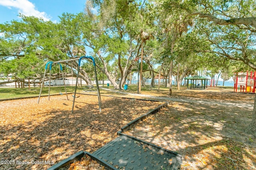
<svg viewBox="0 0 256 170">
<path fill-rule="evenodd" d="M 17 8 L 18 13 L 24 16 L 35 16 L 37 18 L 43 18 L 45 21 L 51 19 L 45 12 L 36 10 L 34 4 L 29 2 L 29 0 L 0 0 L 0 5 L 7 8 Z"/>
</svg>

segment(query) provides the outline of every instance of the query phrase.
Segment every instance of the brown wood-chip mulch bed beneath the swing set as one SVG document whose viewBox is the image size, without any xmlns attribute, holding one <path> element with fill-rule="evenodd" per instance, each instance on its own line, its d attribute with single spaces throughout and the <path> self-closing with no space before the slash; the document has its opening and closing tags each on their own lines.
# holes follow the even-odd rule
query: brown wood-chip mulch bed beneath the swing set
<svg viewBox="0 0 256 170">
<path fill-rule="evenodd" d="M 72 154 L 94 152 L 116 138 L 121 127 L 162 102 L 102 96 L 65 96 L 0 102 L 1 170 L 47 169 Z M 2 162 L 4 161 L 4 162 Z"/>
</svg>

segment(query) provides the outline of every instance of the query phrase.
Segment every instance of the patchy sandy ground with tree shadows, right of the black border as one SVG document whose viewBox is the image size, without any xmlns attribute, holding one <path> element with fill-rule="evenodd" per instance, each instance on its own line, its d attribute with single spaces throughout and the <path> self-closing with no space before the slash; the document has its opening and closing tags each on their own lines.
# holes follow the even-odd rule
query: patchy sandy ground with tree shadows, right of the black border
<svg viewBox="0 0 256 170">
<path fill-rule="evenodd" d="M 256 138 L 244 132 L 252 120 L 252 108 L 246 104 L 253 105 L 254 96 L 176 91 L 172 97 L 193 102 L 170 102 L 126 134 L 178 152 L 182 170 L 255 170 Z"/>
</svg>

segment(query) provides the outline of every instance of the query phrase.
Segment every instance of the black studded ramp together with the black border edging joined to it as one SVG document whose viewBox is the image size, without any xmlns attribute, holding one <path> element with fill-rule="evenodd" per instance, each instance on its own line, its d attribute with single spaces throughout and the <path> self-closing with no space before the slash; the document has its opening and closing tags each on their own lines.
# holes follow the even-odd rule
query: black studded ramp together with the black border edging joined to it
<svg viewBox="0 0 256 170">
<path fill-rule="evenodd" d="M 130 121 L 117 133 L 119 136 L 116 139 L 96 150 L 93 154 L 80 151 L 62 160 L 48 170 L 58 170 L 62 167 L 69 166 L 70 163 L 79 160 L 84 154 L 90 155 L 92 159 L 105 166 L 107 170 L 180 169 L 182 164 L 182 156 L 180 154 L 122 133 L 166 106 L 168 106 L 168 102 Z"/>
</svg>

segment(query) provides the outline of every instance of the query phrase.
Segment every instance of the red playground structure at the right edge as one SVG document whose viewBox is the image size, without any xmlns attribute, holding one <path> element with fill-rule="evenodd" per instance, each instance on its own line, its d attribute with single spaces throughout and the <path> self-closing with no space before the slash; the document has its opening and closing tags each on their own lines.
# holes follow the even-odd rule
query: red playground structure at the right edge
<svg viewBox="0 0 256 170">
<path fill-rule="evenodd" d="M 256 71 L 251 71 L 250 75 L 248 74 L 248 71 L 236 72 L 234 80 L 234 92 L 237 92 L 237 89 L 240 87 L 240 92 L 255 93 Z"/>
</svg>

